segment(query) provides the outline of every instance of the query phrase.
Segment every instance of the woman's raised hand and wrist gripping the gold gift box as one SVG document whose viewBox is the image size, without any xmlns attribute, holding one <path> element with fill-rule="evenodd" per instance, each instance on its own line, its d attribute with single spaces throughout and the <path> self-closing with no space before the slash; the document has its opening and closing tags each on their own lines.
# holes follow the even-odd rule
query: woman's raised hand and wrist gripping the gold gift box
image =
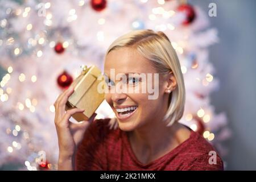
<svg viewBox="0 0 256 182">
<path fill-rule="evenodd" d="M 72 170 L 74 169 L 74 158 L 76 148 L 82 141 L 84 133 L 90 122 L 96 117 L 92 115 L 88 121 L 80 123 L 72 123 L 69 121 L 71 115 L 82 113 L 83 109 L 71 109 L 65 112 L 65 104 L 68 97 L 74 92 L 72 86 L 65 90 L 55 101 L 55 126 L 59 140 L 59 169 Z"/>
</svg>

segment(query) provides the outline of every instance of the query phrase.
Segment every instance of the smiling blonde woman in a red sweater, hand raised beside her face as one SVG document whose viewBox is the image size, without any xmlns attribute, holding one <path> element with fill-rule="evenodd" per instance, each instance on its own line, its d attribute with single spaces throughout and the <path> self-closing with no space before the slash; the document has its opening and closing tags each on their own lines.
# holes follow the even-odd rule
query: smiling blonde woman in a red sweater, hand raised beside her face
<svg viewBox="0 0 256 182">
<path fill-rule="evenodd" d="M 65 90 L 55 102 L 59 169 L 223 169 L 221 158 L 209 155 L 214 148 L 178 122 L 184 110 L 184 81 L 163 32 L 131 31 L 115 40 L 106 52 L 104 72 L 105 99 L 118 127 L 110 128 L 110 119 L 93 121 L 95 115 L 79 124 L 69 122 L 83 110 L 65 113 L 73 88 Z M 154 93 L 148 85 L 154 85 Z"/>
</svg>

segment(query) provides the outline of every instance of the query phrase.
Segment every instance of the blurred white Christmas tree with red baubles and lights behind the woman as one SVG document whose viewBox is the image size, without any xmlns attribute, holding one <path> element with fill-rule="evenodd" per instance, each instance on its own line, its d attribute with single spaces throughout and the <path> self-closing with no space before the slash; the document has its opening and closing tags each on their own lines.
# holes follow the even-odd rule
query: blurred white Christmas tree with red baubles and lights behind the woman
<svg viewBox="0 0 256 182">
<path fill-rule="evenodd" d="M 170 38 L 186 88 L 180 122 L 226 154 L 221 145 L 230 135 L 226 117 L 214 112 L 209 97 L 218 88 L 208 57 L 209 46 L 218 42 L 217 30 L 209 28 L 199 7 L 175 0 L 0 1 L 0 23 L 0 65 L 5 70 L 0 80 L 0 166 L 57 169 L 57 96 L 79 75 L 81 65 L 103 71 L 113 40 L 138 29 L 163 31 Z M 97 113 L 97 118 L 114 117 L 106 102 Z M 46 164 L 40 163 L 44 152 Z"/>
</svg>

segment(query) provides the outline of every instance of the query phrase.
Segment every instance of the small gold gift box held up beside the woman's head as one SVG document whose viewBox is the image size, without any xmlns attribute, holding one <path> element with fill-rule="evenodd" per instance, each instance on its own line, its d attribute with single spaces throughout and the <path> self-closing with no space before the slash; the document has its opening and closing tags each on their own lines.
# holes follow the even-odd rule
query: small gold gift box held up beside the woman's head
<svg viewBox="0 0 256 182">
<path fill-rule="evenodd" d="M 65 110 L 79 108 L 83 113 L 73 114 L 76 121 L 88 120 L 96 111 L 101 102 L 104 101 L 104 93 L 98 92 L 98 84 L 103 81 L 101 71 L 95 65 L 84 67 L 81 75 L 71 84 L 74 92 L 68 98 Z"/>
</svg>

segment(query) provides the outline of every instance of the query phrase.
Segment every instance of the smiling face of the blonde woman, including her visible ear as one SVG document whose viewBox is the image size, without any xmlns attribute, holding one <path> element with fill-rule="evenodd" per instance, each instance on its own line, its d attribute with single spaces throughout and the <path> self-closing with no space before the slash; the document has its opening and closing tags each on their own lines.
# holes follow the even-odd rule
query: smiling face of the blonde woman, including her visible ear
<svg viewBox="0 0 256 182">
<path fill-rule="evenodd" d="M 158 75 L 149 60 L 132 48 L 115 49 L 106 56 L 104 72 L 108 91 L 105 99 L 117 116 L 121 130 L 133 131 L 162 119 L 168 108 L 168 94 L 165 92 L 168 81 Z M 142 75 L 146 75 L 146 79 Z M 143 86 L 146 86 L 146 92 Z M 155 96 L 150 99 L 152 94 Z"/>
</svg>

